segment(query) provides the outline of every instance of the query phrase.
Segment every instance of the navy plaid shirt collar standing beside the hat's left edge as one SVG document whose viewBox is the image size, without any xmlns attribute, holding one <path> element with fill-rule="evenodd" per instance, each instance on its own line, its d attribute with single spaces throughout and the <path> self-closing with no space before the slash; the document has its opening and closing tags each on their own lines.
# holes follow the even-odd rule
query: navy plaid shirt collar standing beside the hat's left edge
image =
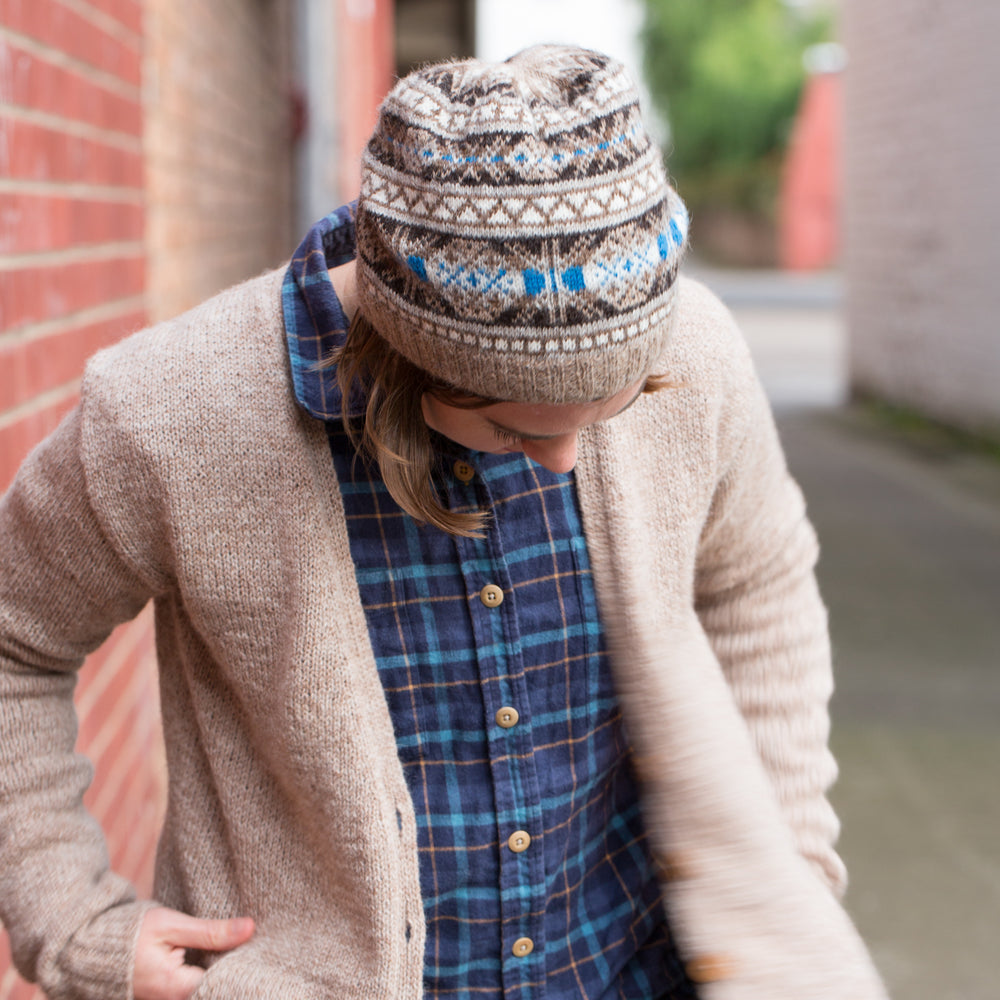
<svg viewBox="0 0 1000 1000">
<path fill-rule="evenodd" d="M 357 202 L 343 205 L 309 230 L 288 265 L 281 287 L 295 398 L 307 413 L 320 420 L 342 420 L 364 411 L 360 393 L 352 392 L 344 407 L 336 366 L 317 367 L 347 337 L 347 317 L 333 290 L 329 269 L 354 260 L 356 209 Z"/>
</svg>

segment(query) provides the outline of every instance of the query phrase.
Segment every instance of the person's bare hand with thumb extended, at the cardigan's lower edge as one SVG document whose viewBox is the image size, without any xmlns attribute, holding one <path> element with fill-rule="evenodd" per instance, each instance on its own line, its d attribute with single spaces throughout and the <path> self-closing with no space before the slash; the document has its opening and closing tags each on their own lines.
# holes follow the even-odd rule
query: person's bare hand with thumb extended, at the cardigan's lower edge
<svg viewBox="0 0 1000 1000">
<path fill-rule="evenodd" d="M 159 906 L 142 918 L 135 946 L 132 992 L 135 1000 L 188 1000 L 204 969 L 184 964 L 186 948 L 229 951 L 253 937 L 249 917 L 200 920 Z"/>
</svg>

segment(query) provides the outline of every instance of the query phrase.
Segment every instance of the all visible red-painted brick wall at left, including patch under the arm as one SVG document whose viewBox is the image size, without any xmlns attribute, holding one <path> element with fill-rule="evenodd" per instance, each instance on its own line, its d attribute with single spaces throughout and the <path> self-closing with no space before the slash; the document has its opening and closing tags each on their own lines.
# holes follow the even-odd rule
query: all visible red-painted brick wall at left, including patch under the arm
<svg viewBox="0 0 1000 1000">
<path fill-rule="evenodd" d="M 139 0 L 0 0 L 0 489 L 146 322 Z M 112 863 L 148 892 L 163 781 L 148 612 L 84 668 L 80 748 Z M 10 967 L 0 1000 L 41 996 Z"/>
</svg>

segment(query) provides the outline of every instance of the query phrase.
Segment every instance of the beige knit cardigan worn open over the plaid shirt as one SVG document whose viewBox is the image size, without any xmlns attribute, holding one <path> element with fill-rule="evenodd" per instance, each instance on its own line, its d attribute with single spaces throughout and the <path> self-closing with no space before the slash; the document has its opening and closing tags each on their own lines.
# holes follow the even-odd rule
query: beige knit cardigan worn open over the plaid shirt
<svg viewBox="0 0 1000 1000">
<path fill-rule="evenodd" d="M 155 600 L 160 902 L 258 931 L 196 997 L 417 1000 L 414 810 L 275 272 L 91 362 L 0 508 L 0 916 L 52 1000 L 131 996 L 148 903 L 80 805 L 74 671 Z M 682 282 L 676 388 L 582 435 L 601 614 L 704 1000 L 883 997 L 837 902 L 813 533 L 747 350 Z M 430 530 L 430 529 L 428 529 Z"/>
</svg>

